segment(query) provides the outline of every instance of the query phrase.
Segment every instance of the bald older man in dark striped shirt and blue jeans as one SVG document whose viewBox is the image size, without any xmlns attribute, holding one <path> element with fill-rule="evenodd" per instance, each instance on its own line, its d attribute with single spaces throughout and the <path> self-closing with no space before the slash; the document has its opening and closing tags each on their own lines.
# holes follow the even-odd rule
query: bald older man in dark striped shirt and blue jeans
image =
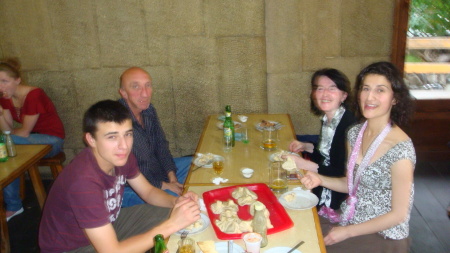
<svg viewBox="0 0 450 253">
<path fill-rule="evenodd" d="M 133 154 L 145 178 L 172 195 L 180 195 L 192 157 L 172 158 L 169 143 L 151 104 L 152 77 L 138 67 L 132 67 L 120 77 L 119 93 L 132 114 L 134 143 Z M 125 188 L 122 207 L 142 204 L 144 201 L 130 188 Z"/>
</svg>

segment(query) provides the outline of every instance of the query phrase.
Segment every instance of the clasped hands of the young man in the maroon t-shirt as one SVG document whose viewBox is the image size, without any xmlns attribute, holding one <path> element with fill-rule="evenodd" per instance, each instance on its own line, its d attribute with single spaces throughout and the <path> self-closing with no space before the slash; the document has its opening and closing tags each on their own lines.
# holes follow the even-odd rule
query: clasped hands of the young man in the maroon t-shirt
<svg viewBox="0 0 450 253">
<path fill-rule="evenodd" d="M 192 200 L 190 197 L 179 197 L 172 213 L 170 220 L 180 229 L 183 229 L 200 219 L 200 208 L 198 201 Z"/>
</svg>

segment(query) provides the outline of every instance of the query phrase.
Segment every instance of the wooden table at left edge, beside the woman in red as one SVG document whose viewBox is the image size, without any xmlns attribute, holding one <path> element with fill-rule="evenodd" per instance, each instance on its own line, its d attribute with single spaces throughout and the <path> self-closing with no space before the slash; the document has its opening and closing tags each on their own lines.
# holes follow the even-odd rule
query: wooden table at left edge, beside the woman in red
<svg viewBox="0 0 450 253">
<path fill-rule="evenodd" d="M 37 164 L 39 160 L 51 151 L 51 148 L 51 145 L 16 145 L 17 155 L 9 157 L 6 162 L 0 163 L 0 252 L 2 253 L 10 252 L 6 210 L 3 204 L 3 188 L 28 172 L 39 206 L 42 209 L 47 194 L 42 184 Z"/>
</svg>

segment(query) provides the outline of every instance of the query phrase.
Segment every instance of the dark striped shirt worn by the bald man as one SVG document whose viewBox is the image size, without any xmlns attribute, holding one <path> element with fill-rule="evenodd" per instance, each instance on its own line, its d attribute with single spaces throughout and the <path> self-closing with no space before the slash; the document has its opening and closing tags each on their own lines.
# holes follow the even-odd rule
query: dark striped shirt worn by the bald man
<svg viewBox="0 0 450 253">
<path fill-rule="evenodd" d="M 131 113 L 126 101 L 122 98 L 119 102 L 125 105 Z M 141 112 L 144 127 L 132 115 L 133 121 L 133 154 L 138 161 L 139 169 L 147 180 L 155 187 L 161 188 L 162 182 L 169 182 L 168 174 L 177 172 L 169 150 L 169 142 L 159 123 L 155 107 L 150 106 Z"/>
</svg>

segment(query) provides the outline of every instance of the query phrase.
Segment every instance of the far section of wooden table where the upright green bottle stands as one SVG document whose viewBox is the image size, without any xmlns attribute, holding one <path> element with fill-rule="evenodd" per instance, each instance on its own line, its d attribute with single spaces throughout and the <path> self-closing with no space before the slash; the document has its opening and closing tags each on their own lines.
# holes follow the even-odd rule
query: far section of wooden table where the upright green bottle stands
<svg viewBox="0 0 450 253">
<path fill-rule="evenodd" d="M 212 153 L 225 158 L 224 170 L 221 177 L 228 179 L 224 185 L 248 184 L 269 182 L 270 157 L 280 150 L 289 150 L 289 144 L 296 138 L 294 126 L 289 114 L 248 114 L 245 123 L 235 120 L 235 132 L 239 136 L 241 128 L 246 127 L 249 135 L 249 143 L 235 141 L 231 151 L 223 149 L 223 130 L 221 129 L 221 115 L 211 115 L 206 120 L 202 135 L 197 145 L 196 155 Z M 262 120 L 277 122 L 280 124 L 277 133 L 277 148 L 268 151 L 262 148 L 262 132 L 256 128 Z M 194 162 L 197 157 L 194 157 Z M 210 168 L 196 168 L 192 164 L 185 185 L 201 185 L 212 183 L 215 177 Z M 254 170 L 251 178 L 244 178 L 240 169 L 251 168 Z M 297 181 L 298 183 L 298 181 Z"/>
</svg>

